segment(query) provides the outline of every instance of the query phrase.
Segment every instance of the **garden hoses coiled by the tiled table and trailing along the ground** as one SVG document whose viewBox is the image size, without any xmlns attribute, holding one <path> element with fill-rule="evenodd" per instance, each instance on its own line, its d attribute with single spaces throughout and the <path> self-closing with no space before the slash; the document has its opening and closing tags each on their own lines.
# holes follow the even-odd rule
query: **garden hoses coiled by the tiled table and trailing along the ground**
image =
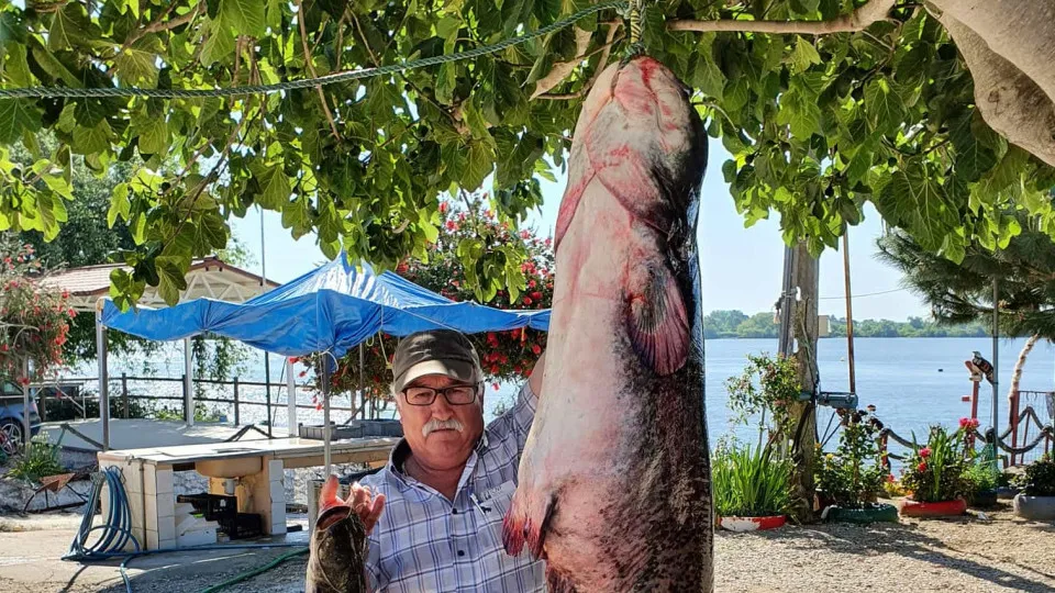
<svg viewBox="0 0 1055 593">
<path fill-rule="evenodd" d="M 103 471 L 92 474 L 91 493 L 88 502 L 85 504 L 85 514 L 80 522 L 80 527 L 74 536 L 74 541 L 69 546 L 69 551 L 63 556 L 63 560 L 74 560 L 78 562 L 92 562 L 113 560 L 124 558 L 121 562 L 121 580 L 124 582 L 124 589 L 132 593 L 132 581 L 129 579 L 126 569 L 129 562 L 155 553 L 186 552 L 186 551 L 207 551 L 207 550 L 242 550 L 242 549 L 268 549 L 268 548 L 301 548 L 293 553 L 279 557 L 265 567 L 240 574 L 235 579 L 245 580 L 266 570 L 270 570 L 280 562 L 308 551 L 308 544 L 242 544 L 242 545 L 206 545 L 190 546 L 185 548 L 163 548 L 157 550 L 143 550 L 138 540 L 132 535 L 132 512 L 129 508 L 129 496 L 121 482 L 121 471 L 118 468 L 107 468 Z M 109 508 L 104 511 L 106 521 L 101 525 L 91 526 L 95 517 L 96 505 L 99 504 L 99 495 L 102 493 L 103 485 L 107 486 L 109 494 Z M 102 535 L 91 546 L 87 546 L 88 537 L 92 532 L 101 530 Z M 135 546 L 135 551 L 122 551 L 129 542 Z M 211 588 L 209 591 L 219 591 L 220 588 L 233 584 L 234 580 L 225 581 Z"/>
</svg>

